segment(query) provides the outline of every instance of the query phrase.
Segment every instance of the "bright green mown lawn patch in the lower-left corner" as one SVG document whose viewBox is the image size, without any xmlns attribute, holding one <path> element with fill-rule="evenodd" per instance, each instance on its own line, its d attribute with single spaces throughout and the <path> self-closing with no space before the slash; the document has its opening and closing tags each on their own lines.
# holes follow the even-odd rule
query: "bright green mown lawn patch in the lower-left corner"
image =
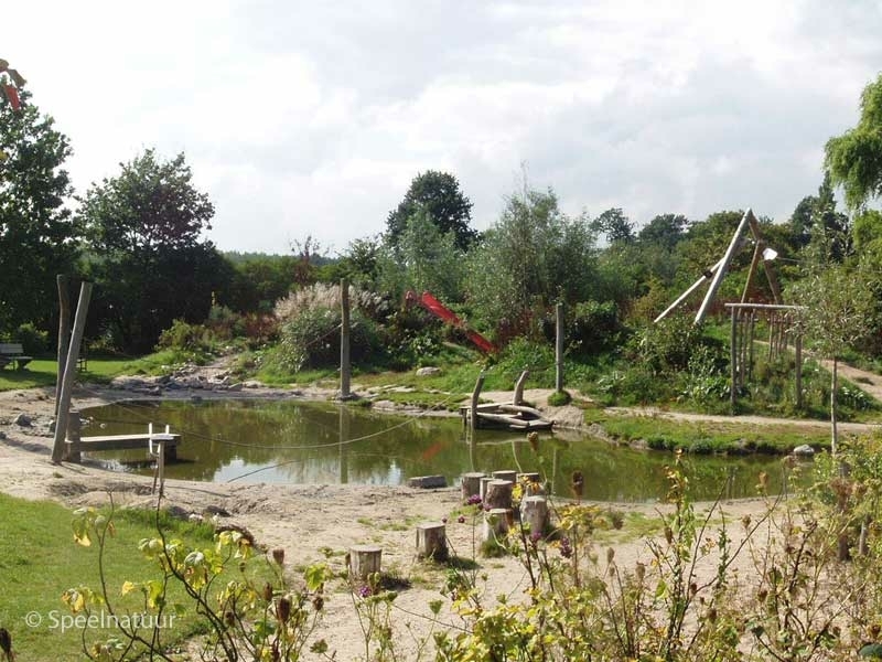
<svg viewBox="0 0 882 662">
<path fill-rule="evenodd" d="M 0 576 L 3 592 L 0 597 L 0 624 L 12 634 L 13 648 L 20 660 L 74 661 L 84 659 L 80 636 L 83 629 L 62 628 L 71 612 L 62 602 L 68 588 L 99 588 L 98 546 L 83 547 L 74 543 L 72 513 L 51 502 L 26 501 L 0 494 L 3 513 L 3 535 L 0 536 Z M 137 551 L 138 542 L 155 537 L 151 511 L 119 510 L 115 515 L 117 535 L 108 538 L 105 569 L 108 590 L 119 606 L 132 613 L 143 613 L 143 598 L 136 594 L 120 597 L 126 579 L 133 581 L 158 576 L 151 563 Z M 204 524 L 190 524 L 163 517 L 168 534 L 200 547 L 211 546 L 212 531 Z M 252 567 L 249 564 L 249 567 Z M 136 591 L 137 592 L 137 591 Z M 184 601 L 182 590 L 171 594 L 172 601 Z M 25 617 L 39 615 L 42 622 L 28 627 Z M 122 613 L 126 611 L 123 610 Z M 36 617 L 31 617 L 36 618 Z M 170 622 L 170 621 L 166 621 Z M 68 623 L 69 624 L 69 623 Z M 182 640 L 201 630 L 192 616 L 175 618 L 170 641 Z M 88 629 L 88 640 L 115 636 L 112 629 Z M 51 651 L 51 654 L 46 654 Z"/>
</svg>

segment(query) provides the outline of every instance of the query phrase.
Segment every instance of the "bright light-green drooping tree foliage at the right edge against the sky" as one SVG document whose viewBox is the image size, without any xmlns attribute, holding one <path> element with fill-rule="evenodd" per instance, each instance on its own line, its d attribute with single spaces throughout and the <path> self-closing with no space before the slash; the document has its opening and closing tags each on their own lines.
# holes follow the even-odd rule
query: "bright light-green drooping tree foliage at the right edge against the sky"
<svg viewBox="0 0 882 662">
<path fill-rule="evenodd" d="M 851 211 L 882 194 L 882 74 L 863 88 L 858 126 L 830 138 L 824 164 Z"/>
</svg>

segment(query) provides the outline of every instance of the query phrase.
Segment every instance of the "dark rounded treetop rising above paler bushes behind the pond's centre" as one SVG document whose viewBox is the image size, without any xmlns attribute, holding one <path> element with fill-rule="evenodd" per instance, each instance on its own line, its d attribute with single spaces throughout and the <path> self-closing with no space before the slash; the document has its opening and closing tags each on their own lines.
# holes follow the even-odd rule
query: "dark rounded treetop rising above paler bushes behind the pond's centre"
<svg viewBox="0 0 882 662">
<path fill-rule="evenodd" d="M 429 170 L 413 178 L 405 199 L 386 220 L 386 239 L 390 245 L 398 244 L 408 220 L 418 211 L 428 214 L 440 234 L 452 232 L 460 250 L 467 250 L 477 237 L 477 232 L 469 225 L 472 203 L 450 173 Z"/>
</svg>

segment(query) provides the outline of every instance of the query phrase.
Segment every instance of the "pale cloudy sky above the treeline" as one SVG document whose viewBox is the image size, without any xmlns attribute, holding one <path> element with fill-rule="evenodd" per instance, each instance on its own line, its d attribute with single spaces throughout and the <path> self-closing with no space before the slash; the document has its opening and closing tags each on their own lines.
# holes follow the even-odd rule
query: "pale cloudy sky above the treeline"
<svg viewBox="0 0 882 662">
<path fill-rule="evenodd" d="M 338 255 L 412 179 L 506 196 L 786 221 L 882 70 L 861 0 L 29 0 L 0 57 L 71 140 L 77 193 L 144 149 L 184 152 L 222 250 Z"/>
</svg>

